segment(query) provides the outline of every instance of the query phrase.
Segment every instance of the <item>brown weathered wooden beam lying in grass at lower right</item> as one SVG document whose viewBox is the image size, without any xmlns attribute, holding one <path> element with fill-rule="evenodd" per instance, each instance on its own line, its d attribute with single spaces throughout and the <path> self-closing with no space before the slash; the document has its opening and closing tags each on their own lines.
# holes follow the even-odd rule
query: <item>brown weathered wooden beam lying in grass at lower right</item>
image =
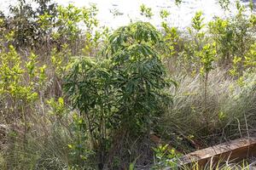
<svg viewBox="0 0 256 170">
<path fill-rule="evenodd" d="M 224 144 L 218 144 L 203 150 L 189 153 L 180 159 L 180 165 L 191 165 L 198 162 L 204 167 L 207 162 L 218 161 L 242 161 L 243 159 L 256 156 L 256 138 L 236 139 Z"/>
</svg>

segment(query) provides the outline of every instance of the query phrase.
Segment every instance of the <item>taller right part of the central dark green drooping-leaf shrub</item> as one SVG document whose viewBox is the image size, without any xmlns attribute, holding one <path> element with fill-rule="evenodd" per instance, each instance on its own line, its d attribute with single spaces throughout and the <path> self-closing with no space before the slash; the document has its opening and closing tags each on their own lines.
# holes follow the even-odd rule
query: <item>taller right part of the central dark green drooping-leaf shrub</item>
<svg viewBox="0 0 256 170">
<path fill-rule="evenodd" d="M 162 91 L 169 82 L 155 48 L 160 45 L 160 34 L 150 24 L 137 22 L 114 31 L 109 41 L 121 126 L 131 132 L 147 129 L 169 98 Z"/>
</svg>

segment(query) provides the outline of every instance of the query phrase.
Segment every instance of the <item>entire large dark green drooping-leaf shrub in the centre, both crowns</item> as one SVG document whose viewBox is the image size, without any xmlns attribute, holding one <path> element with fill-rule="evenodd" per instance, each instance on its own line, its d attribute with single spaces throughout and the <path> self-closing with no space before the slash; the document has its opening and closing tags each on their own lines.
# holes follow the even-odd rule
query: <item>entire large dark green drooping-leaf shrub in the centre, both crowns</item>
<svg viewBox="0 0 256 170">
<path fill-rule="evenodd" d="M 109 59 L 79 59 L 67 74 L 65 91 L 86 118 L 93 148 L 102 154 L 113 135 L 109 129 L 145 133 L 163 111 L 162 102 L 167 104 L 168 95 L 162 90 L 169 83 L 154 48 L 160 38 L 148 23 L 121 27 L 109 37 Z"/>
</svg>

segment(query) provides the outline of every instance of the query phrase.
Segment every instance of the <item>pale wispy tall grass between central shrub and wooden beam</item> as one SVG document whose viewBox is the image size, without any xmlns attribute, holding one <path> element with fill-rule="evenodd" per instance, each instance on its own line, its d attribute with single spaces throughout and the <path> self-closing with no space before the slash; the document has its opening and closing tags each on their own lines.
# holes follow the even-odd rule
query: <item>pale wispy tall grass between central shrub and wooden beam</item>
<svg viewBox="0 0 256 170">
<path fill-rule="evenodd" d="M 177 74 L 173 105 L 160 120 L 159 133 L 182 150 L 195 150 L 255 133 L 256 76 L 237 82 L 226 71 L 209 75 L 207 106 L 200 75 Z M 185 148 L 184 148 L 185 147 Z"/>
</svg>

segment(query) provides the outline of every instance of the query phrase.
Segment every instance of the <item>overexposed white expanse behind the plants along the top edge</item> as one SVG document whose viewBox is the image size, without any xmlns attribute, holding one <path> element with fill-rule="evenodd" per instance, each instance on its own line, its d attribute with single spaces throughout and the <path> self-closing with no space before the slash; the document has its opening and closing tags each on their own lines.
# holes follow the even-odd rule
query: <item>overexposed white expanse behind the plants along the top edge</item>
<svg viewBox="0 0 256 170">
<path fill-rule="evenodd" d="M 0 0 L 0 8 L 8 8 L 10 3 L 15 0 Z M 130 20 L 145 20 L 140 15 L 139 7 L 145 4 L 152 8 L 154 17 L 150 20 L 155 26 L 160 25 L 159 13 L 161 9 L 166 9 L 171 15 L 168 17 L 168 22 L 171 26 L 184 28 L 189 26 L 191 18 L 195 12 L 201 10 L 206 21 L 211 20 L 213 16 L 224 16 L 224 11 L 219 7 L 218 0 L 183 0 L 183 3 L 177 7 L 174 0 L 55 0 L 61 5 L 73 3 L 76 6 L 88 6 L 90 3 L 96 3 L 99 8 L 98 18 L 102 25 L 110 27 L 124 26 Z M 235 0 L 231 0 L 235 2 Z M 123 15 L 113 17 L 109 11 L 114 8 L 118 9 Z M 231 11 L 235 10 L 234 6 Z M 234 12 L 234 11 L 233 11 Z"/>
</svg>

